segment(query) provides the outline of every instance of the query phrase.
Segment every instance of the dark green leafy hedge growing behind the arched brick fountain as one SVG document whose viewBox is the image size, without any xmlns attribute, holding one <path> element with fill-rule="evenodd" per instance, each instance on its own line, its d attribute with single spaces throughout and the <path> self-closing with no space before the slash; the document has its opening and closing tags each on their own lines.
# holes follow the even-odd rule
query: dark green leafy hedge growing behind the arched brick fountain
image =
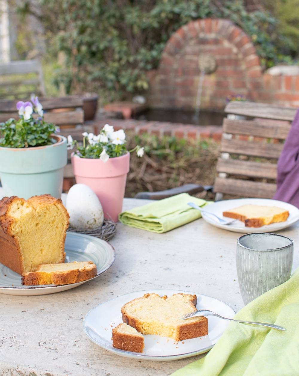
<svg viewBox="0 0 299 376">
<path fill-rule="evenodd" d="M 19 11 L 33 14 L 29 1 Z M 263 63 L 279 59 L 281 36 L 268 12 L 248 13 L 242 1 L 221 0 L 39 0 L 52 45 L 66 54 L 57 86 L 80 92 L 90 85 L 124 96 L 148 88 L 147 71 L 156 68 L 170 36 L 197 18 L 228 18 L 252 38 Z M 54 42 L 55 41 L 55 42 Z"/>
</svg>

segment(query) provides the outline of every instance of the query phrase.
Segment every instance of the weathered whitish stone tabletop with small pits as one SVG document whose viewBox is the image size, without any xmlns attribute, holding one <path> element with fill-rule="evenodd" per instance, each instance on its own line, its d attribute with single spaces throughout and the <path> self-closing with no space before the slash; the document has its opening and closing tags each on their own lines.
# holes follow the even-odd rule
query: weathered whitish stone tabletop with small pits
<svg viewBox="0 0 299 376">
<path fill-rule="evenodd" d="M 147 202 L 125 199 L 124 209 Z M 297 223 L 279 231 L 294 240 L 293 269 L 299 265 L 298 229 Z M 118 223 L 110 241 L 116 261 L 98 278 L 50 295 L 0 294 L 0 375 L 169 375 L 201 358 L 154 362 L 114 355 L 86 337 L 83 318 L 111 298 L 159 288 L 206 294 L 238 311 L 243 306 L 235 264 L 240 235 L 202 218 L 164 234 Z"/>
</svg>

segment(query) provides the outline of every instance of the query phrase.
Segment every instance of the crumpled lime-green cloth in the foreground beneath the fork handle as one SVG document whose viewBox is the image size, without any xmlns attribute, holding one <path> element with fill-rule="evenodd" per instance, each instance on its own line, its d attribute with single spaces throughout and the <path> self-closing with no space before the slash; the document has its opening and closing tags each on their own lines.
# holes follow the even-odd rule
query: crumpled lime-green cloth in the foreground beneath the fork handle
<svg viewBox="0 0 299 376">
<path fill-rule="evenodd" d="M 287 330 L 231 322 L 205 358 L 171 376 L 299 374 L 299 268 L 287 282 L 242 308 L 236 318 L 275 323 Z"/>
</svg>

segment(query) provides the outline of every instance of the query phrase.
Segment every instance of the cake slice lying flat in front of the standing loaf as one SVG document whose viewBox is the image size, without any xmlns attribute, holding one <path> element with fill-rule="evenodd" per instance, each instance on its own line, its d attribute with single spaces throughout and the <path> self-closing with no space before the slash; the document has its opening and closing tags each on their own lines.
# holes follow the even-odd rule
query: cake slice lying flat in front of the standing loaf
<svg viewBox="0 0 299 376">
<path fill-rule="evenodd" d="M 68 285 L 95 277 L 96 265 L 92 261 L 65 262 L 39 265 L 35 271 L 22 274 L 22 285 Z"/>
</svg>

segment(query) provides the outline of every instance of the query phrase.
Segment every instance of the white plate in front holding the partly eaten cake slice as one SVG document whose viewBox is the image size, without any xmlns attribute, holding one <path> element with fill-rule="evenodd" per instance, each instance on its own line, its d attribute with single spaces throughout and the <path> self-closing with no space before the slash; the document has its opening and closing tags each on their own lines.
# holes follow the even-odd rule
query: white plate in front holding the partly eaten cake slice
<svg viewBox="0 0 299 376">
<path fill-rule="evenodd" d="M 83 321 L 84 332 L 93 342 L 117 355 L 126 358 L 168 361 L 198 355 L 210 350 L 219 340 L 229 321 L 215 316 L 208 316 L 209 335 L 176 342 L 171 338 L 159 335 L 144 335 L 143 353 L 135 353 L 115 349 L 112 346 L 112 329 L 122 323 L 120 309 L 132 299 L 139 298 L 146 293 L 155 293 L 160 296 L 172 296 L 177 293 L 195 294 L 197 309 L 210 309 L 224 317 L 233 318 L 234 310 L 227 304 L 210 296 L 180 290 L 146 290 L 125 294 L 102 303 L 85 316 Z"/>
</svg>

